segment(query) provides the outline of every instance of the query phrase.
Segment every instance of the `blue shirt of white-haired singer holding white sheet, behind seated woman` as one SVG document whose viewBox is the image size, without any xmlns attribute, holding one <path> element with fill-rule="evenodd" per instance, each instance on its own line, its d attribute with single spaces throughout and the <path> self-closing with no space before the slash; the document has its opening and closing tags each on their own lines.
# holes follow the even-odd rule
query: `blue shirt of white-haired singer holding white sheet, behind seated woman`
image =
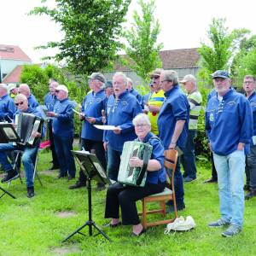
<svg viewBox="0 0 256 256">
<path fill-rule="evenodd" d="M 138 113 L 142 113 L 142 108 L 136 97 L 128 91 L 123 92 L 118 101 L 115 100 L 113 95 L 109 96 L 107 103 L 108 125 L 120 126 L 122 129 L 120 134 L 115 134 L 113 131 L 105 132 L 104 141 L 108 142 L 111 148 L 122 152 L 124 143 L 136 138 L 132 119 Z"/>
</svg>

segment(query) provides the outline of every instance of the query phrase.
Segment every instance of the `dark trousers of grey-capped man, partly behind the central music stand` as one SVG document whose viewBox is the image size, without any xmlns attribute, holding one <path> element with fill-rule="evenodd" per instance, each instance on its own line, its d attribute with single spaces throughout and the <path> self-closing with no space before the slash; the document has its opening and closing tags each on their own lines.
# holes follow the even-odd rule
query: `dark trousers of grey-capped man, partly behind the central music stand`
<svg viewBox="0 0 256 256">
<path fill-rule="evenodd" d="M 98 160 L 100 160 L 102 167 L 104 170 L 107 170 L 107 162 L 105 158 L 105 150 L 103 148 L 103 143 L 99 141 L 92 141 L 88 139 L 81 140 L 81 149 L 84 148 L 86 151 L 91 151 L 91 149 L 95 150 L 96 157 Z M 79 172 L 79 182 L 85 183 L 86 182 L 86 176 L 84 175 L 84 172 L 80 170 Z"/>
</svg>

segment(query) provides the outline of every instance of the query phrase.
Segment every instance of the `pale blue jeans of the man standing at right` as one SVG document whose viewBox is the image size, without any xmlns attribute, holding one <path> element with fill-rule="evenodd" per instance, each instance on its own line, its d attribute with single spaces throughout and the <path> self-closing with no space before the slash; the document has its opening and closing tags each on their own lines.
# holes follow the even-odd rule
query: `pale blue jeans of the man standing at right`
<svg viewBox="0 0 256 256">
<path fill-rule="evenodd" d="M 213 160 L 218 173 L 221 218 L 230 222 L 230 224 L 242 227 L 244 212 L 244 151 L 236 150 L 225 156 L 213 153 Z"/>
</svg>

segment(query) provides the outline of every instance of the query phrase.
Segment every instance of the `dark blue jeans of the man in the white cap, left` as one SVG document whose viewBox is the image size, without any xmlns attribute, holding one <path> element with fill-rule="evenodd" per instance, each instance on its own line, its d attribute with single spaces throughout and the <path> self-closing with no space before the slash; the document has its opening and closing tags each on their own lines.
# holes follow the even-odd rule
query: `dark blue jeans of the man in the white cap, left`
<svg viewBox="0 0 256 256">
<path fill-rule="evenodd" d="M 60 174 L 75 177 L 76 166 L 73 159 L 73 137 L 61 137 L 54 134 L 55 152 L 60 164 Z"/>
</svg>

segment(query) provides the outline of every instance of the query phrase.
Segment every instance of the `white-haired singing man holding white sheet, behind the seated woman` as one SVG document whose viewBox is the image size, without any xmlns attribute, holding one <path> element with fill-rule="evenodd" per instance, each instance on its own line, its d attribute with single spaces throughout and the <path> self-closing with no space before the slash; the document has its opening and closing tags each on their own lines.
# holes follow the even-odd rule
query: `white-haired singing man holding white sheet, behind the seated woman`
<svg viewBox="0 0 256 256">
<path fill-rule="evenodd" d="M 113 95 L 107 103 L 107 124 L 114 125 L 113 131 L 104 133 L 104 148 L 108 149 L 108 177 L 117 180 L 119 173 L 120 155 L 124 143 L 136 138 L 134 119 L 142 108 L 137 98 L 126 90 L 127 78 L 124 73 L 113 75 Z"/>
</svg>

